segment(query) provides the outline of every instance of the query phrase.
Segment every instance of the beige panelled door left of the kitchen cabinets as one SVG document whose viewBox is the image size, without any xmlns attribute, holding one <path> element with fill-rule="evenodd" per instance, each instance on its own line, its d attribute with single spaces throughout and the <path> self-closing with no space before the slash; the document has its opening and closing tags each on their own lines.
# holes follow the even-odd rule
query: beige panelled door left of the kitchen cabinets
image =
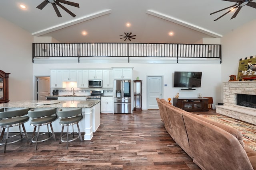
<svg viewBox="0 0 256 170">
<path fill-rule="evenodd" d="M 37 77 L 37 100 L 46 100 L 50 95 L 50 77 Z"/>
</svg>

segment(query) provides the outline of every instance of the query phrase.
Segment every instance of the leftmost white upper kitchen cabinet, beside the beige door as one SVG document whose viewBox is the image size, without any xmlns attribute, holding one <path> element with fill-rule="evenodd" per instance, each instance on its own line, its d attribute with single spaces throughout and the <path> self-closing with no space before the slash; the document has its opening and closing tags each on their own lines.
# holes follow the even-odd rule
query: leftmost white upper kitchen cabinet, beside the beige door
<svg viewBox="0 0 256 170">
<path fill-rule="evenodd" d="M 62 82 L 62 70 L 51 70 L 51 88 L 65 88 L 66 83 Z"/>
</svg>

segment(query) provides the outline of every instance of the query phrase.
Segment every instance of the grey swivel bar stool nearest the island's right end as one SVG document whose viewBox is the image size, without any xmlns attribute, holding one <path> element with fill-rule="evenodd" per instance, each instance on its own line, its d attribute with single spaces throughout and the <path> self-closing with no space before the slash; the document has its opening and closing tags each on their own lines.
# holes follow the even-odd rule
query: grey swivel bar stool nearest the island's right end
<svg viewBox="0 0 256 170">
<path fill-rule="evenodd" d="M 63 108 L 63 109 L 59 109 L 57 111 L 57 115 L 60 118 L 60 125 L 62 125 L 62 130 L 60 133 L 60 142 L 66 142 L 67 146 L 66 149 L 68 149 L 68 142 L 72 142 L 76 139 L 78 139 L 80 137 L 80 140 L 83 141 L 82 139 L 82 135 L 80 132 L 80 128 L 78 123 L 83 119 L 82 117 L 82 108 L 78 108 L 78 109 L 70 109 L 70 108 Z M 74 125 L 77 125 L 77 129 L 78 132 L 74 132 Z M 68 127 L 72 125 L 73 127 L 73 132 L 69 133 L 68 132 Z M 67 133 L 65 135 L 63 135 L 63 130 L 64 130 L 64 126 L 67 126 Z M 74 137 L 74 133 L 78 134 L 78 137 Z M 73 134 L 73 138 L 72 139 L 68 139 L 68 135 Z M 66 140 L 64 140 L 63 138 L 66 137 Z"/>
</svg>

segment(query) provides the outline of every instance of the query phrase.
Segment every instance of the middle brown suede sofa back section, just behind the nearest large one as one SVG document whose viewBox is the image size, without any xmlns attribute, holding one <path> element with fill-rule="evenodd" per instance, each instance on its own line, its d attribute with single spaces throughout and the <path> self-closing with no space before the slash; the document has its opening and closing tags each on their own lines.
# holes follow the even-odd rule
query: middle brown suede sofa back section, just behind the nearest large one
<svg viewBox="0 0 256 170">
<path fill-rule="evenodd" d="M 188 143 L 188 135 L 182 117 L 183 113 L 168 105 L 164 105 L 164 107 L 166 108 L 167 114 L 169 116 L 175 142 L 188 154 L 188 156 L 192 158 Z"/>
</svg>

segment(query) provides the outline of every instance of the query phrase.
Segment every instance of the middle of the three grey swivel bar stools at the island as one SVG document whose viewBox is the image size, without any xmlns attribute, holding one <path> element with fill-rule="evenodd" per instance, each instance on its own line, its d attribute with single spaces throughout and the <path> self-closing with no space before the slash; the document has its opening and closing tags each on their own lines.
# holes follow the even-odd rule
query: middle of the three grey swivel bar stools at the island
<svg viewBox="0 0 256 170">
<path fill-rule="evenodd" d="M 55 114 L 55 115 L 54 115 Z M 52 122 L 54 122 L 57 119 L 56 116 L 56 108 L 36 108 L 36 109 L 31 109 L 28 111 L 28 117 L 31 118 L 30 125 L 34 126 L 34 131 L 31 139 L 31 143 L 36 143 L 36 149 L 37 150 L 37 143 L 38 142 L 44 142 L 53 137 L 54 141 L 56 141 L 54 131 L 52 129 Z M 51 131 L 49 131 L 49 124 L 51 127 Z M 48 138 L 46 139 L 41 139 L 38 141 L 38 137 L 40 135 L 44 135 L 46 133 L 40 133 L 40 126 L 47 125 L 47 130 L 48 130 Z M 36 133 L 36 127 L 37 129 L 37 135 Z M 51 134 L 51 135 L 50 135 Z"/>
</svg>

